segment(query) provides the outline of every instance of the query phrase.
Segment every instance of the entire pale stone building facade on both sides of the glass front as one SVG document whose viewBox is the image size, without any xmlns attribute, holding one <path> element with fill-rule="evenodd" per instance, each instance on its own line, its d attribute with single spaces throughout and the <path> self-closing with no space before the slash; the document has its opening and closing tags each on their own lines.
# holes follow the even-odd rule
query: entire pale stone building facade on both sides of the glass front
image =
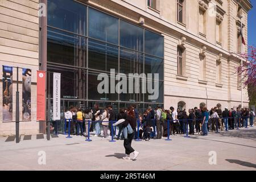
<svg viewBox="0 0 256 182">
<path fill-rule="evenodd" d="M 57 1 L 57 0 L 56 0 Z M 46 2 L 43 1 L 42 2 Z M 241 64 L 241 18 L 247 49 L 249 0 L 77 0 L 127 22 L 164 36 L 164 107 L 237 107 L 241 84 L 236 67 Z M 22 68 L 32 71 L 31 121 L 20 122 L 22 134 L 39 133 L 36 121 L 36 70 L 42 69 L 39 30 L 39 0 L 0 0 L 0 74 L 2 65 L 13 67 L 13 90 L 19 67 L 19 98 L 22 106 Z M 43 31 L 43 30 L 42 30 Z M 46 30 L 44 30 L 46 31 Z M 41 36 L 41 38 L 40 38 Z M 44 52 L 44 55 L 46 53 Z M 46 57 L 46 56 L 42 56 Z M 45 68 L 44 68 L 45 69 Z M 3 97 L 0 84 L 0 97 Z M 13 108 L 15 108 L 13 94 Z M 1 106 L 3 105 L 0 100 Z M 246 88 L 243 106 L 249 105 Z M 3 122 L 0 135 L 15 133 L 15 122 Z M 15 119 L 15 111 L 13 111 Z M 20 118 L 22 109 L 20 108 Z M 13 120 L 14 120 L 13 119 Z"/>
</svg>

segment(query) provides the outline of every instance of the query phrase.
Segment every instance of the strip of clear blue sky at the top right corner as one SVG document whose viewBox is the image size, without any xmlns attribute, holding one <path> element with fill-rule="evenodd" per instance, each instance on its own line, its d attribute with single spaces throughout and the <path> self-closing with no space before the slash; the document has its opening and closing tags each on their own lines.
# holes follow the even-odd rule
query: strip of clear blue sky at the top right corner
<svg viewBox="0 0 256 182">
<path fill-rule="evenodd" d="M 256 0 L 251 0 L 253 9 L 249 11 L 248 17 L 248 46 L 256 47 Z"/>
</svg>

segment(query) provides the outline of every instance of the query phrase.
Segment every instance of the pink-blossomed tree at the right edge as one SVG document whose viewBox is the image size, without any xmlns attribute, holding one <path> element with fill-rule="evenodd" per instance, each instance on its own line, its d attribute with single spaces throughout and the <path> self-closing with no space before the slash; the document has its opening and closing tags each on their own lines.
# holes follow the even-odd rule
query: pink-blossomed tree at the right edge
<svg viewBox="0 0 256 182">
<path fill-rule="evenodd" d="M 243 66 L 238 67 L 238 74 L 243 74 L 243 87 L 247 86 L 250 104 L 256 104 L 256 48 L 250 46 L 248 52 L 241 55 L 245 59 Z"/>
</svg>

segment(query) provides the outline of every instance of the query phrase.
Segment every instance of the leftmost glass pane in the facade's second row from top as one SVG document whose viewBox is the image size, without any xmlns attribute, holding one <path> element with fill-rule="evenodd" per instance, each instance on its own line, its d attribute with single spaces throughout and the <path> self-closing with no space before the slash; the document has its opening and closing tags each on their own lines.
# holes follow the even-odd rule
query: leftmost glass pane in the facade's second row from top
<svg viewBox="0 0 256 182">
<path fill-rule="evenodd" d="M 64 31 L 48 28 L 47 61 L 86 67 L 86 39 Z"/>
</svg>

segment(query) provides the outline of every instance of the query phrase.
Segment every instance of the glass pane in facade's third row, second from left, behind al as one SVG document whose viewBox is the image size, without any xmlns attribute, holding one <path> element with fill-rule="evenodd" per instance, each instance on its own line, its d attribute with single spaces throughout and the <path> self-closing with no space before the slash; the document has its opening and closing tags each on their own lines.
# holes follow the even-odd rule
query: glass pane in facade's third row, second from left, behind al
<svg viewBox="0 0 256 182">
<path fill-rule="evenodd" d="M 106 88 L 108 88 L 108 93 L 99 93 L 98 92 L 98 84 L 102 82 L 102 80 L 97 80 L 98 75 L 100 73 L 95 72 L 89 72 L 88 73 L 88 99 L 89 100 L 102 100 L 102 101 L 117 101 L 118 100 L 118 94 L 117 93 L 110 93 L 111 88 L 115 89 L 115 85 L 117 84 L 117 81 L 115 81 L 115 84 L 110 84 L 110 75 L 109 77 L 109 85 L 105 85 Z M 105 88 L 102 88 L 105 89 Z"/>
</svg>

